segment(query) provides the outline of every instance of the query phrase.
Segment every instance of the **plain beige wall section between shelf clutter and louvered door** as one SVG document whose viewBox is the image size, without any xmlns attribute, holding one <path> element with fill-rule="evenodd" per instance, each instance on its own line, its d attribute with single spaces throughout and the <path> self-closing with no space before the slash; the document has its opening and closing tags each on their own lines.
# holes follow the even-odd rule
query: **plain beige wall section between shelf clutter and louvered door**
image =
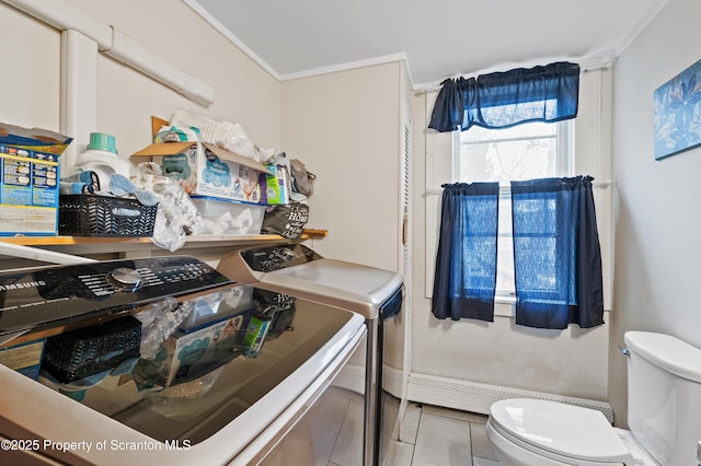
<svg viewBox="0 0 701 466">
<path fill-rule="evenodd" d="M 311 246 L 398 270 L 401 63 L 283 82 L 283 147 L 317 175 Z"/>
</svg>

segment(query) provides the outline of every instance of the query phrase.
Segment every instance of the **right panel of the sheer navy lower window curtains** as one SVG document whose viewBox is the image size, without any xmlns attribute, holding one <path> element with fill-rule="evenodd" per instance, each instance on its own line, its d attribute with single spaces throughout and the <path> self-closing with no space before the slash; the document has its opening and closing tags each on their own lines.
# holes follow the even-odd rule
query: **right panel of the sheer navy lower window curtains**
<svg viewBox="0 0 701 466">
<path fill-rule="evenodd" d="M 590 176 L 512 182 L 516 324 L 604 324 Z"/>
</svg>

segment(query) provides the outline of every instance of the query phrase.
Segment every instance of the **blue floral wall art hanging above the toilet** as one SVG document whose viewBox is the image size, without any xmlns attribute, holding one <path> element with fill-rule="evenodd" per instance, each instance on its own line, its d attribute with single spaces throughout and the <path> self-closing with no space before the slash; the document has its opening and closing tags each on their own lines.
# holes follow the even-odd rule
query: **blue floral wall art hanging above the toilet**
<svg viewBox="0 0 701 466">
<path fill-rule="evenodd" d="M 655 91 L 655 159 L 701 145 L 701 60 Z"/>
</svg>

